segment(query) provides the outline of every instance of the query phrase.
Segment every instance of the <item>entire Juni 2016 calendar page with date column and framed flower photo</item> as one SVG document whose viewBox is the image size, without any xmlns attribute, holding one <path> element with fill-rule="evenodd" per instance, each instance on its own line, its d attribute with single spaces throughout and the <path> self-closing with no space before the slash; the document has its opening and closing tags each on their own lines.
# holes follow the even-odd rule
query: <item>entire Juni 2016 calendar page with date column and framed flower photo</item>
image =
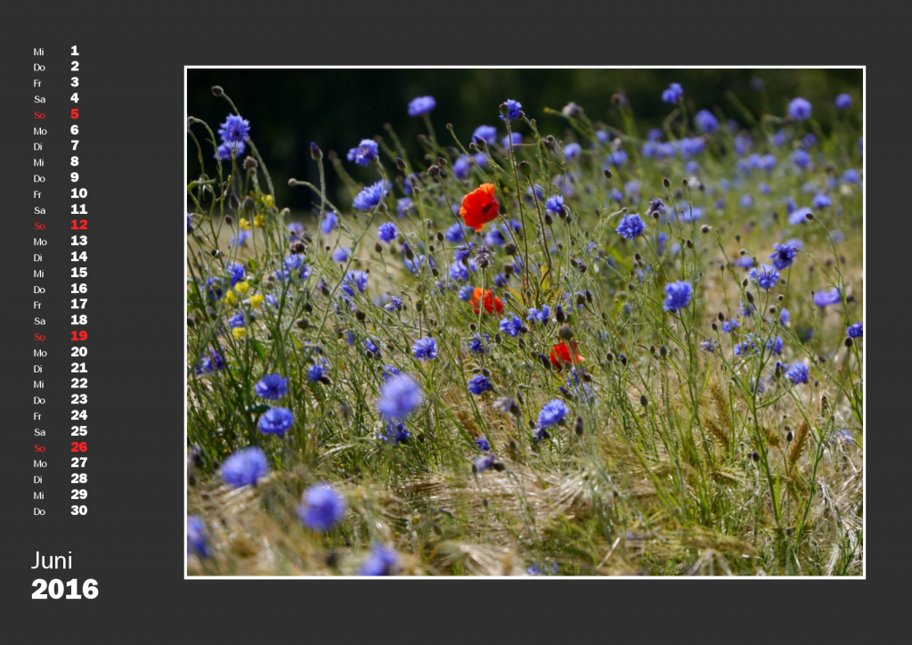
<svg viewBox="0 0 912 645">
<path fill-rule="evenodd" d="M 4 642 L 860 629 L 865 59 L 522 8 L 5 23 Z"/>
</svg>

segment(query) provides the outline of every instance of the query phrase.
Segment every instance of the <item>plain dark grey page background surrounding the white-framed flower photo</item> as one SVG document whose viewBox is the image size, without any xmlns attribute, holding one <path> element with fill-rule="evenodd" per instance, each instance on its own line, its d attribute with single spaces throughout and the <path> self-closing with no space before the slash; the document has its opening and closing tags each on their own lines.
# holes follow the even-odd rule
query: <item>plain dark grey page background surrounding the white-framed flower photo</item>
<svg viewBox="0 0 912 645">
<path fill-rule="evenodd" d="M 897 160 L 886 166 L 886 161 L 906 154 L 897 132 L 907 129 L 907 81 L 898 69 L 889 69 L 889 52 L 878 51 L 903 37 L 890 33 L 891 24 L 878 25 L 875 33 L 873 20 L 859 15 L 857 5 L 851 15 L 826 5 L 806 16 L 794 4 L 720 3 L 711 10 L 681 4 L 666 9 L 658 3 L 331 6 L 337 16 L 311 3 L 272 8 L 265 3 L 118 4 L 104 11 L 83 4 L 68 7 L 67 14 L 51 5 L 7 8 L 0 39 L 5 72 L 0 124 L 10 134 L 2 167 L 5 194 L 11 196 L 6 203 L 12 207 L 5 209 L 11 216 L 5 221 L 3 250 L 8 291 L 0 319 L 9 359 L 0 388 L 7 437 L 0 473 L 9 502 L 0 557 L 0 640 L 234 643 L 319 641 L 325 636 L 340 642 L 513 642 L 534 635 L 535 640 L 656 642 L 662 634 L 679 640 L 790 642 L 831 635 L 850 640 L 884 629 L 904 595 L 886 588 L 882 567 L 875 567 L 867 581 L 183 579 L 185 357 L 179 280 L 184 277 L 186 64 L 866 64 L 880 86 L 873 86 L 875 112 L 869 122 L 881 133 L 873 140 L 874 158 L 880 160 L 876 167 L 882 169 L 874 175 L 876 190 L 868 192 L 868 213 L 876 213 L 875 233 L 888 231 L 893 238 L 892 244 L 885 239 L 873 248 L 885 264 L 904 257 L 900 233 L 907 224 L 902 209 L 897 212 L 896 198 L 906 185 L 900 175 L 905 165 Z M 32 264 L 23 259 L 32 253 L 35 220 L 32 183 L 24 179 L 32 174 L 33 158 L 32 49 L 45 47 L 46 59 L 64 66 L 74 44 L 82 61 L 78 107 L 84 143 L 79 156 L 92 209 L 90 514 L 70 518 L 58 513 L 59 519 L 42 522 L 28 515 L 31 501 L 22 502 L 31 496 L 26 491 L 31 480 L 24 473 L 31 472 L 34 443 L 32 406 L 23 403 L 33 395 L 28 339 L 35 330 L 33 296 L 25 293 L 33 284 Z M 55 97 L 54 110 L 68 115 L 70 91 L 60 83 L 48 88 L 47 96 Z M 886 98 L 886 88 L 893 90 L 892 100 Z M 48 118 L 48 123 L 53 121 Z M 888 140 L 896 143 L 885 151 L 878 142 Z M 68 162 L 68 147 L 61 152 Z M 47 171 L 57 172 L 56 188 L 65 196 L 58 202 L 57 222 L 68 224 L 68 168 L 58 161 L 55 170 L 48 166 Z M 65 192 L 60 192 L 63 184 Z M 886 218 L 889 224 L 879 224 Z M 62 234 L 63 244 L 68 234 Z M 68 252 L 58 244 L 55 261 L 63 267 L 58 271 L 67 274 Z M 895 296 L 900 271 L 904 269 L 898 267 L 892 281 Z M 875 281 L 875 290 L 885 288 L 886 269 L 881 275 L 885 280 Z M 68 282 L 68 277 L 57 280 Z M 68 295 L 60 299 L 64 305 L 46 313 L 59 323 L 55 333 L 66 338 Z M 867 300 L 878 307 L 879 299 Z M 877 338 L 875 331 L 876 345 Z M 901 337 L 895 342 L 904 343 Z M 66 389 L 68 362 L 58 353 L 57 371 L 46 372 L 57 391 Z M 900 378 L 891 385 L 886 375 L 879 380 L 885 390 L 876 391 L 887 393 L 902 383 Z M 873 479 L 881 482 L 872 489 L 879 501 L 872 516 L 880 517 L 880 525 L 886 524 L 891 493 L 899 498 L 890 514 L 894 523 L 905 515 L 900 509 L 907 490 L 901 481 L 886 482 L 887 476 L 907 469 L 886 463 L 882 455 L 898 460 L 908 452 L 896 443 L 898 435 L 907 433 L 906 424 L 881 424 L 889 411 L 882 407 L 885 400 L 878 397 L 872 406 L 882 419 L 875 424 L 875 438 L 890 442 L 886 448 L 879 444 L 871 469 Z M 57 421 L 64 420 L 68 428 L 68 401 L 62 401 Z M 67 471 L 68 477 L 67 466 L 58 467 L 58 473 Z M 66 506 L 68 500 L 64 512 Z M 877 551 L 890 549 L 894 561 L 901 561 L 907 552 L 904 536 L 894 532 L 886 542 L 886 535 L 875 533 Z M 29 568 L 36 550 L 53 555 L 72 551 L 74 569 L 36 575 Z M 902 584 L 898 575 L 896 571 Z M 94 577 L 100 595 L 94 600 L 32 600 L 35 577 Z"/>
</svg>

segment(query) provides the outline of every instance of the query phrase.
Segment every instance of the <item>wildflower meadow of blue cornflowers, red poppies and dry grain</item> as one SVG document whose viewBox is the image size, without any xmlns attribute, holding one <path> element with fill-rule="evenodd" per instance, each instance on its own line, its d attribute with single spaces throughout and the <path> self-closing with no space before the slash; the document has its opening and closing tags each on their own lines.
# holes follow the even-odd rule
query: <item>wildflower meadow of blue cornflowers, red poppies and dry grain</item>
<svg viewBox="0 0 912 645">
<path fill-rule="evenodd" d="M 188 119 L 189 574 L 863 574 L 860 87 L 418 96 L 292 176 L 231 97 Z"/>
</svg>

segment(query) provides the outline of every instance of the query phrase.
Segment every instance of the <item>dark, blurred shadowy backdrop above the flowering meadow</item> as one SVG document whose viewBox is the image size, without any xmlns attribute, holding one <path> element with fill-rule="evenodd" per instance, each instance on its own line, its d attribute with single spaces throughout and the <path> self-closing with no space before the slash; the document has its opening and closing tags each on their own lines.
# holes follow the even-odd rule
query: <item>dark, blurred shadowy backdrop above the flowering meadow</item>
<svg viewBox="0 0 912 645">
<path fill-rule="evenodd" d="M 415 137 L 425 131 L 423 120 L 408 114 L 415 97 L 437 100 L 430 118 L 441 143 L 452 144 L 445 129 L 451 123 L 467 146 L 482 124 L 498 126 L 505 136 L 497 108 L 505 99 L 520 101 L 543 135 L 562 137 L 565 121 L 545 114 L 544 108 L 561 109 L 574 101 L 590 119 L 619 125 L 612 96 L 622 93 L 645 133 L 668 116 L 670 106 L 662 102 L 661 92 L 672 82 L 683 86 L 691 117 L 697 109 L 720 109 L 742 125 L 730 93 L 755 115 L 782 115 L 788 101 L 801 96 L 814 105 L 814 119 L 824 131 L 836 118 L 837 94 L 855 99 L 853 114 L 863 107 L 860 69 L 189 69 L 187 100 L 189 113 L 215 131 L 229 113 L 228 104 L 212 96 L 212 86 L 221 85 L 250 120 L 252 138 L 273 175 L 276 203 L 300 212 L 311 207 L 312 193 L 290 190 L 287 180 L 317 182 L 310 142 L 344 159 L 359 140 L 385 135 L 389 123 L 415 154 Z M 208 163 L 211 150 L 205 153 Z M 199 173 L 193 146 L 188 155 L 192 179 Z M 346 167 L 358 181 L 377 180 L 376 171 L 351 163 Z M 207 172 L 214 173 L 214 161 Z M 326 180 L 335 196 L 338 182 L 331 169 Z"/>
</svg>

